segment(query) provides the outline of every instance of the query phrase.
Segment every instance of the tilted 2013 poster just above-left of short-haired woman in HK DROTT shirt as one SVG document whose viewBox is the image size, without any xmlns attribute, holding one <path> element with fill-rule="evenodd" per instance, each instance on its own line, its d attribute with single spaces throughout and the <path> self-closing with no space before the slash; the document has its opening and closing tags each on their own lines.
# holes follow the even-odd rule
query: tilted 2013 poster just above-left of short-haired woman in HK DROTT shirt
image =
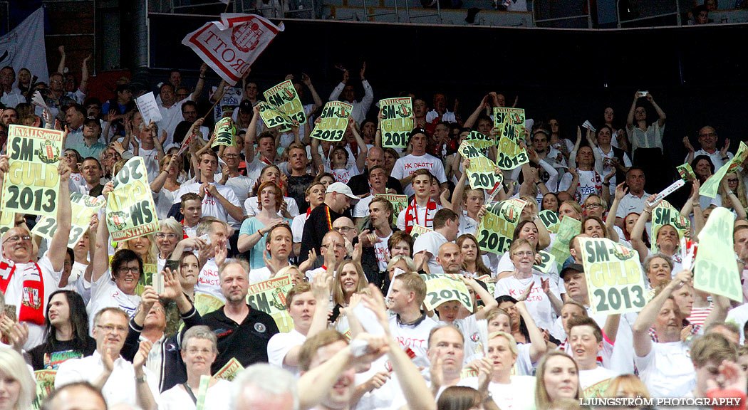
<svg viewBox="0 0 748 410">
<path fill-rule="evenodd" d="M 478 226 L 478 247 L 499 255 L 509 250 L 524 205 L 527 202 L 522 199 L 507 199 L 488 205 Z"/>
</svg>

